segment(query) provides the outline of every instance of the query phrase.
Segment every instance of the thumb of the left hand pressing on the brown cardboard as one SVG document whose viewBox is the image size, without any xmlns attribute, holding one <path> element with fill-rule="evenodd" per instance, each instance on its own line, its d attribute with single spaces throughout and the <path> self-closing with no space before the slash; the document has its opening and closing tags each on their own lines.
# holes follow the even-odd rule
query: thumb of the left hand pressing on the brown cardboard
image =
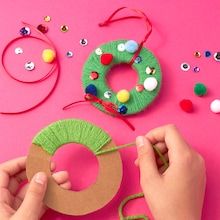
<svg viewBox="0 0 220 220">
<path fill-rule="evenodd" d="M 22 217 L 21 219 L 39 219 L 46 189 L 46 174 L 43 172 L 35 174 L 29 184 L 24 201 L 17 211 L 17 214 Z"/>
</svg>

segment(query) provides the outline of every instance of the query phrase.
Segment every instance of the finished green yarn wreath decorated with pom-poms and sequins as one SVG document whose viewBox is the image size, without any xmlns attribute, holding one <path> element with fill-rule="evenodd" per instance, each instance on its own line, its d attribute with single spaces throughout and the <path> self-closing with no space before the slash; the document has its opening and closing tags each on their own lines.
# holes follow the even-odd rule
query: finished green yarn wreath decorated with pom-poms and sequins
<svg viewBox="0 0 220 220">
<path fill-rule="evenodd" d="M 131 63 L 138 48 L 139 44 L 134 40 L 111 41 L 96 48 L 83 68 L 85 93 L 114 103 L 122 115 L 135 114 L 145 109 L 158 95 L 162 75 L 157 58 L 145 47 L 141 48 Z M 131 64 L 136 70 L 138 83 L 131 91 L 122 89 L 115 93 L 107 85 L 106 75 L 112 67 L 123 63 Z M 93 102 L 93 105 L 105 111 L 99 103 Z"/>
</svg>

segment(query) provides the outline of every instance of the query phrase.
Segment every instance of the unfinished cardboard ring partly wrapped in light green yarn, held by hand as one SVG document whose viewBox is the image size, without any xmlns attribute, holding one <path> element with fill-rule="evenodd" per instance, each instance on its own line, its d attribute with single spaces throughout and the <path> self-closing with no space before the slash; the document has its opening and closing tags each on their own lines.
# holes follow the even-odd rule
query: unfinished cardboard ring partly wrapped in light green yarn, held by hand
<svg viewBox="0 0 220 220">
<path fill-rule="evenodd" d="M 99 173 L 96 182 L 81 191 L 61 188 L 51 176 L 50 161 L 56 150 L 67 143 L 80 143 L 96 155 Z M 118 151 L 98 155 L 101 149 L 115 147 L 111 137 L 101 128 L 83 120 L 54 122 L 40 131 L 31 145 L 26 172 L 29 180 L 39 171 L 48 179 L 44 198 L 46 205 L 68 215 L 86 215 L 105 206 L 117 193 L 122 179 L 122 161 Z M 83 175 L 83 174 L 82 174 Z"/>
</svg>

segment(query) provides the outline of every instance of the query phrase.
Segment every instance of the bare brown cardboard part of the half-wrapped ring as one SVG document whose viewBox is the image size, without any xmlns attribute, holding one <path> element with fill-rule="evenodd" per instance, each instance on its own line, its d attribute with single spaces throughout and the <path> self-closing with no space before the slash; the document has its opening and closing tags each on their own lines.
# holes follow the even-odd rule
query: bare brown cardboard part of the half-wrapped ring
<svg viewBox="0 0 220 220">
<path fill-rule="evenodd" d="M 115 147 L 111 140 L 102 149 Z M 96 182 L 81 191 L 65 190 L 53 179 L 50 171 L 52 155 L 42 146 L 32 144 L 27 158 L 26 173 L 30 181 L 34 174 L 43 171 L 48 176 L 45 204 L 60 213 L 80 216 L 92 213 L 108 204 L 117 193 L 122 180 L 122 161 L 115 151 L 97 155 L 99 173 Z"/>
</svg>

